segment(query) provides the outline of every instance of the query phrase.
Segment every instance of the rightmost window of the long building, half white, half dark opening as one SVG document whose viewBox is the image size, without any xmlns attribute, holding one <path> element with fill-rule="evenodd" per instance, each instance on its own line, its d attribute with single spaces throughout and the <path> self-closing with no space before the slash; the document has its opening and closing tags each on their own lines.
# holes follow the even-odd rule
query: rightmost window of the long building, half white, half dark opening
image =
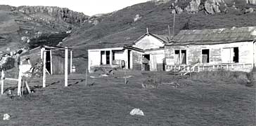
<svg viewBox="0 0 256 126">
<path fill-rule="evenodd" d="M 222 50 L 222 63 L 235 63 L 239 62 L 239 49 L 235 48 L 223 48 Z"/>
</svg>

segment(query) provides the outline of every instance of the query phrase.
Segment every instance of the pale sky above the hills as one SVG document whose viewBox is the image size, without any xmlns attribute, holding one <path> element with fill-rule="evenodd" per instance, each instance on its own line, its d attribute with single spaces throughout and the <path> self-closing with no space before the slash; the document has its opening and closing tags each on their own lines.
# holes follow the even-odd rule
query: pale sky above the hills
<svg viewBox="0 0 256 126">
<path fill-rule="evenodd" d="M 99 13 L 110 13 L 146 1 L 148 0 L 0 0 L 0 4 L 10 6 L 58 6 L 91 16 Z"/>
</svg>

